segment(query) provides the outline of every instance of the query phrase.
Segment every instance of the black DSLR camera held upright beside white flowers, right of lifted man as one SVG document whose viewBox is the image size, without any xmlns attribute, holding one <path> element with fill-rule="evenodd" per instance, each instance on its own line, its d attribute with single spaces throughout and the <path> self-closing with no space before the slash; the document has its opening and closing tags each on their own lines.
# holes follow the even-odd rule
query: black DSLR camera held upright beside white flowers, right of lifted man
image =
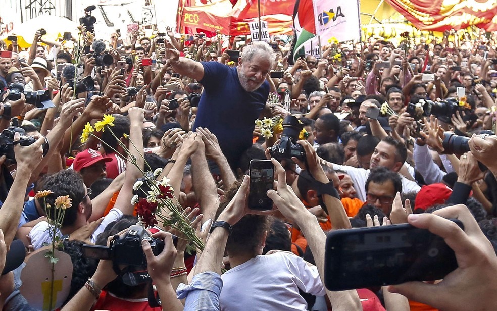
<svg viewBox="0 0 497 311">
<path fill-rule="evenodd" d="M 291 160 L 291 157 L 295 157 L 304 162 L 306 160 L 306 151 L 303 146 L 297 144 L 299 134 L 304 126 L 299 123 L 295 116 L 286 116 L 282 125 L 283 133 L 281 134 L 280 142 L 271 147 L 271 157 L 278 161 Z"/>
</svg>

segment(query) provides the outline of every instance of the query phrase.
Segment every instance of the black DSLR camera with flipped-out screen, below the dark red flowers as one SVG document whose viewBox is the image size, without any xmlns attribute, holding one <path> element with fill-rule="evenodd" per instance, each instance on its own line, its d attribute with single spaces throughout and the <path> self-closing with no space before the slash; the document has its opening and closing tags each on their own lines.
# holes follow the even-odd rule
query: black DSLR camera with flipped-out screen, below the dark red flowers
<svg viewBox="0 0 497 311">
<path fill-rule="evenodd" d="M 110 246 L 83 245 L 83 255 L 86 258 L 110 259 L 118 265 L 146 267 L 145 253 L 141 247 L 142 240 L 150 243 L 155 256 L 164 249 L 164 241 L 151 237 L 142 226 L 133 225 L 122 237 L 114 236 Z"/>
</svg>

